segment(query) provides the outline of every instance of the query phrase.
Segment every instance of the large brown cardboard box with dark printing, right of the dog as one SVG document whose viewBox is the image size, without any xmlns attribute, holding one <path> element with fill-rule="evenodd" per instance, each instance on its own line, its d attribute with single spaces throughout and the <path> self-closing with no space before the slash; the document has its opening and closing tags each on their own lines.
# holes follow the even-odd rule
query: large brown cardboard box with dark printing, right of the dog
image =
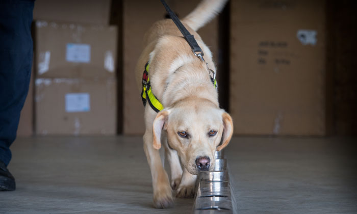
<svg viewBox="0 0 357 214">
<path fill-rule="evenodd" d="M 325 2 L 231 2 L 238 135 L 325 134 Z"/>
</svg>

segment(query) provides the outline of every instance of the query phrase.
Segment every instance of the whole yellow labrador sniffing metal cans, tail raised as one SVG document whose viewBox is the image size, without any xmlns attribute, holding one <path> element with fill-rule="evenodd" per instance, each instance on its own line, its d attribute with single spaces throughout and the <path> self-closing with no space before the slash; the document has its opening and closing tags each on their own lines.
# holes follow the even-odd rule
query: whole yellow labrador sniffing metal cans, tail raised
<svg viewBox="0 0 357 214">
<path fill-rule="evenodd" d="M 164 106 L 157 113 L 151 103 L 146 104 L 144 113 L 144 151 L 157 208 L 172 205 L 171 189 L 176 189 L 176 197 L 193 197 L 197 174 L 214 168 L 215 151 L 227 146 L 232 137 L 232 118 L 219 108 L 217 90 L 208 71 L 208 67 L 216 70 L 212 53 L 196 33 L 225 3 L 226 0 L 203 0 L 182 20 L 203 50 L 206 62 L 193 54 L 171 19 L 156 22 L 145 34 L 145 48 L 136 67 L 138 86 L 142 91 L 143 71 L 147 70 L 144 76 L 149 76 L 151 93 Z M 162 145 L 171 181 L 161 161 Z"/>
</svg>

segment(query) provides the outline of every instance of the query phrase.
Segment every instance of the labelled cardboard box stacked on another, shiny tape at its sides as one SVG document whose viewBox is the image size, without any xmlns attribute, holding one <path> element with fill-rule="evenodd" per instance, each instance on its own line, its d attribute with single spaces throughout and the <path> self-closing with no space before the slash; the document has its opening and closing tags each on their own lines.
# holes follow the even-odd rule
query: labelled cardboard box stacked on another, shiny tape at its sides
<svg viewBox="0 0 357 214">
<path fill-rule="evenodd" d="M 36 21 L 36 77 L 114 77 L 116 26 Z"/>
</svg>

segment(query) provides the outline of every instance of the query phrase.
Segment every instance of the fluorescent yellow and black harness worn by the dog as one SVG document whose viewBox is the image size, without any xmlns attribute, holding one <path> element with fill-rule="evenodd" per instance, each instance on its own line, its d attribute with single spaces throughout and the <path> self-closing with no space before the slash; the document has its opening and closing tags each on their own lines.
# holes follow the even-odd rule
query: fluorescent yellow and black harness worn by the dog
<svg viewBox="0 0 357 214">
<path fill-rule="evenodd" d="M 211 81 L 214 85 L 214 88 L 216 88 L 217 87 L 216 78 L 211 77 Z M 156 98 L 156 96 L 154 95 L 154 93 L 152 93 L 152 90 L 151 90 L 151 85 L 150 85 L 150 81 L 149 81 L 149 62 L 147 62 L 145 65 L 143 78 L 142 78 L 142 87 L 143 87 L 143 90 L 141 92 L 141 99 L 143 101 L 144 106 L 146 105 L 146 102 L 148 102 L 149 105 L 151 106 L 151 108 L 155 112 L 160 112 L 161 110 L 163 110 L 164 106 L 161 104 L 159 99 Z"/>
</svg>

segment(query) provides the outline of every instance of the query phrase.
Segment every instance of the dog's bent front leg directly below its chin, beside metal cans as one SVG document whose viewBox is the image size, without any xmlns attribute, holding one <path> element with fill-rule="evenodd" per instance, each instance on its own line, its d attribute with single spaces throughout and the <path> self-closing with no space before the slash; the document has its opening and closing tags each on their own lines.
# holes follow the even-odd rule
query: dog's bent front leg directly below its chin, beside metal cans
<svg viewBox="0 0 357 214">
<path fill-rule="evenodd" d="M 193 198 L 195 195 L 195 185 L 196 185 L 197 175 L 192 175 L 184 169 L 182 174 L 181 183 L 179 188 L 177 188 L 176 197 L 177 198 Z"/>
</svg>

